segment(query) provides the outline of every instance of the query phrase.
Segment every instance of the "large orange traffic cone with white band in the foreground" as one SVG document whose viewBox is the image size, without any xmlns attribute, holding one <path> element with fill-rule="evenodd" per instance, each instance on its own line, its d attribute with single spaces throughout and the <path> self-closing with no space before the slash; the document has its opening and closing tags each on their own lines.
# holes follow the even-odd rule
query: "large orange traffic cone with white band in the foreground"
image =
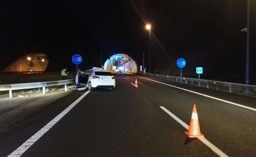
<svg viewBox="0 0 256 157">
<path fill-rule="evenodd" d="M 196 105 L 193 107 L 192 116 L 190 120 L 190 127 L 185 134 L 190 138 L 204 137 L 200 132 L 199 121 L 197 116 L 197 108 Z"/>
</svg>

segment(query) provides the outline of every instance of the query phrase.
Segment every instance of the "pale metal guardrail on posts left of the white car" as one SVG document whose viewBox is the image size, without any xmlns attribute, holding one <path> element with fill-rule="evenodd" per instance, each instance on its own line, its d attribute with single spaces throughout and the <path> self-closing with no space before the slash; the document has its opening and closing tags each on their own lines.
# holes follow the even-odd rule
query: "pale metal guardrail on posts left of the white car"
<svg viewBox="0 0 256 157">
<path fill-rule="evenodd" d="M 12 98 L 13 90 L 43 88 L 43 94 L 45 94 L 46 87 L 64 85 L 64 90 L 67 91 L 67 84 L 72 84 L 72 83 L 73 83 L 73 80 L 70 79 L 70 80 L 59 80 L 59 81 L 49 81 L 49 82 L 23 83 L 23 84 L 3 84 L 3 85 L 0 85 L 0 91 L 9 91 L 9 97 Z"/>
</svg>

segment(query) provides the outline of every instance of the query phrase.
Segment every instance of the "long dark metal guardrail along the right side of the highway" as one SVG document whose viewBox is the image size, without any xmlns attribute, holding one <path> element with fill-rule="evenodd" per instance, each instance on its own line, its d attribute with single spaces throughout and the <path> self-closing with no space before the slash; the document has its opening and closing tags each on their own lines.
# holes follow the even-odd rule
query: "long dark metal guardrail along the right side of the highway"
<svg viewBox="0 0 256 157">
<path fill-rule="evenodd" d="M 169 80 L 174 82 L 179 82 L 183 84 L 190 84 L 193 86 L 199 86 L 203 88 L 214 89 L 217 91 L 223 91 L 238 95 L 245 95 L 248 97 L 256 97 L 256 86 L 247 85 L 247 84 L 237 84 L 231 82 L 220 82 L 214 80 L 202 80 L 202 79 L 194 79 L 188 77 L 177 77 L 177 76 L 169 76 L 169 75 L 160 75 L 160 74 L 152 74 L 152 73 L 142 73 L 142 75 L 155 77 L 162 80 Z"/>
</svg>

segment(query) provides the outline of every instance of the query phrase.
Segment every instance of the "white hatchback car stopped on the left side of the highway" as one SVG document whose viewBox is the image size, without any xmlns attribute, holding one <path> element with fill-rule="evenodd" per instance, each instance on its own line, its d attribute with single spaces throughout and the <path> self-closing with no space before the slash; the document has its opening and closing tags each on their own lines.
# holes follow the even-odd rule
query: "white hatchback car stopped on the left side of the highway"
<svg viewBox="0 0 256 157">
<path fill-rule="evenodd" d="M 85 80 L 85 86 L 93 91 L 94 88 L 108 88 L 113 90 L 116 87 L 116 80 L 113 74 L 110 71 L 104 71 L 99 68 L 93 68 L 87 70 L 83 73 L 82 76 Z M 87 80 L 88 79 L 88 80 Z"/>
</svg>

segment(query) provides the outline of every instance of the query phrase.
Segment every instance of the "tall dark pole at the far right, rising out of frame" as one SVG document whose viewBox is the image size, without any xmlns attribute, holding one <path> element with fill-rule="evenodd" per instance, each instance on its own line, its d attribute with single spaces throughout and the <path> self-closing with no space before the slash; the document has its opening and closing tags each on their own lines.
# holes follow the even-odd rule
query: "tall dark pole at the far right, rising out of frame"
<svg viewBox="0 0 256 157">
<path fill-rule="evenodd" d="M 250 0 L 247 0 L 247 34 L 246 34 L 246 74 L 245 84 L 249 84 L 249 53 L 250 53 Z"/>
</svg>

